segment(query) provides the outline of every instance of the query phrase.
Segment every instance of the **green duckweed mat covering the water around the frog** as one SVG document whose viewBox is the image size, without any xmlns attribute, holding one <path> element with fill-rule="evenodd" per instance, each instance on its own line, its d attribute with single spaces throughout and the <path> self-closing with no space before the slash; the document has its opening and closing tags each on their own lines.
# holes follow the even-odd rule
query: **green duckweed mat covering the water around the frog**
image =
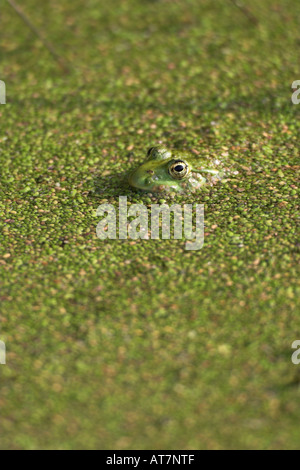
<svg viewBox="0 0 300 470">
<path fill-rule="evenodd" d="M 1 2 L 0 447 L 299 448 L 300 6 Z M 161 142 L 222 157 L 131 190 Z M 205 241 L 105 240 L 105 202 L 202 203 Z"/>
</svg>

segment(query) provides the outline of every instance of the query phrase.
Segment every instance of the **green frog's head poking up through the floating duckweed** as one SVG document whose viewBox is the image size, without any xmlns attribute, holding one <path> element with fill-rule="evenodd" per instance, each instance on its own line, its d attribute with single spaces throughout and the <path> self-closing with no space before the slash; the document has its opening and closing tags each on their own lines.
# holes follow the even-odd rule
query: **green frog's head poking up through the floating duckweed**
<svg viewBox="0 0 300 470">
<path fill-rule="evenodd" d="M 217 158 L 196 156 L 184 150 L 158 145 L 150 147 L 146 160 L 129 174 L 135 189 L 148 192 L 195 192 L 204 185 L 214 185 L 224 176 Z"/>
</svg>

